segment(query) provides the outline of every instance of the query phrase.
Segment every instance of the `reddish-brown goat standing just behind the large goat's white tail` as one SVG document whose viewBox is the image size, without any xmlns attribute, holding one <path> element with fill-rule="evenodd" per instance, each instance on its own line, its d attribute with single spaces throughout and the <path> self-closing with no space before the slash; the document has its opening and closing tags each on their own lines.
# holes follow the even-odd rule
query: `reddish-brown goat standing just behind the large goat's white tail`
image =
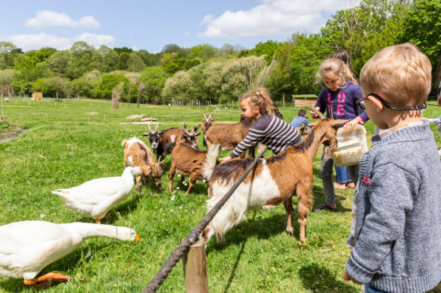
<svg viewBox="0 0 441 293">
<path fill-rule="evenodd" d="M 168 173 L 168 190 L 170 192 L 173 191 L 173 177 L 176 171 L 181 174 L 181 182 L 185 182 L 185 176 L 189 176 L 189 186 L 185 196 L 188 195 L 196 180 L 205 182 L 206 180 L 203 175 L 205 161 L 218 164 L 216 160 L 218 151 L 218 144 L 213 144 L 208 151 L 199 151 L 184 143 L 176 145 L 172 151 L 172 164 L 170 165 L 170 173 Z"/>
</svg>

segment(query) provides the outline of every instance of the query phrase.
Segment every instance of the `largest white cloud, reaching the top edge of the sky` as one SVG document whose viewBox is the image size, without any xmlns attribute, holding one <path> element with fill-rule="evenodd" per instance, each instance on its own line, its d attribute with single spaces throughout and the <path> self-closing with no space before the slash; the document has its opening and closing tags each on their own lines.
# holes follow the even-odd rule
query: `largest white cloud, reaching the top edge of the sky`
<svg viewBox="0 0 441 293">
<path fill-rule="evenodd" d="M 247 11 L 227 10 L 220 17 L 207 14 L 201 25 L 207 28 L 198 36 L 210 39 L 240 39 L 279 36 L 294 32 L 314 33 L 326 23 L 322 13 L 356 6 L 359 0 L 263 0 Z"/>
</svg>

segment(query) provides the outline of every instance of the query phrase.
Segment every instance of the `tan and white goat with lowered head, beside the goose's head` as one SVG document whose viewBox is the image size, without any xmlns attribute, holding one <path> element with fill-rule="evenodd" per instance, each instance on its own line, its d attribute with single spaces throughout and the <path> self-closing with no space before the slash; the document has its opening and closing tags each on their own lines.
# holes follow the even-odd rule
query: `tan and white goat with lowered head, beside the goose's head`
<svg viewBox="0 0 441 293">
<path fill-rule="evenodd" d="M 156 186 L 162 188 L 161 175 L 163 173 L 162 166 L 165 160 L 161 161 L 161 157 L 158 158 L 158 162 L 145 145 L 144 142 L 138 138 L 130 138 L 130 140 L 123 140 L 121 146 L 125 146 L 124 149 L 124 164 L 125 166 L 139 166 L 143 171 L 142 176 L 136 177 L 136 192 L 141 189 L 142 179 L 145 183 L 148 183 L 148 178 L 152 179 Z"/>
</svg>

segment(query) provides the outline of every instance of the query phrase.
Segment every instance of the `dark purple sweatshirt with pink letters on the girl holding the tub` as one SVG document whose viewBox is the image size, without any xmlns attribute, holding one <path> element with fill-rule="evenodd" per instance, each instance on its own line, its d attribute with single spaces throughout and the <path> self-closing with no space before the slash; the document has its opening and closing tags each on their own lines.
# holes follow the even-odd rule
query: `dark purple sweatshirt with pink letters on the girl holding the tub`
<svg viewBox="0 0 441 293">
<path fill-rule="evenodd" d="M 328 87 L 323 87 L 318 95 L 316 107 L 320 107 L 320 112 L 325 113 L 329 118 L 329 105 L 332 105 L 334 119 L 350 119 L 359 117 L 360 124 L 365 124 L 369 118 L 366 111 L 359 109 L 357 100 L 362 98 L 360 85 L 347 81 L 344 88 L 331 91 Z"/>
</svg>

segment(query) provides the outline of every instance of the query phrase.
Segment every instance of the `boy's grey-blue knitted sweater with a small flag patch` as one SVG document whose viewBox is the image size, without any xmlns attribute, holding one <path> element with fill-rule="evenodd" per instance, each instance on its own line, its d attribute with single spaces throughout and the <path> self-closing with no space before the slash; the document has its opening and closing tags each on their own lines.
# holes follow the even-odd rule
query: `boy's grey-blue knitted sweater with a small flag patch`
<svg viewBox="0 0 441 293">
<path fill-rule="evenodd" d="M 360 162 L 349 274 L 387 292 L 441 281 L 441 163 L 429 123 L 391 133 Z"/>
</svg>

